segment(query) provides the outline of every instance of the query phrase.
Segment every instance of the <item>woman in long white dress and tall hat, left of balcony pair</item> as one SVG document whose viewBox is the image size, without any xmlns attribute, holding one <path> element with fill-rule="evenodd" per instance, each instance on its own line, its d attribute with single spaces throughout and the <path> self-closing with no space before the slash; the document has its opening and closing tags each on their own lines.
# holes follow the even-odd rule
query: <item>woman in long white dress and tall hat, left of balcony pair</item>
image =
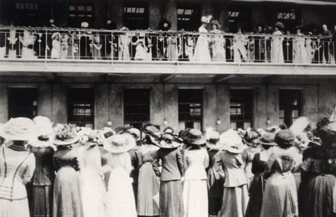
<svg viewBox="0 0 336 217">
<path fill-rule="evenodd" d="M 211 62 L 210 50 L 209 50 L 209 37 L 207 36 L 207 25 L 210 23 L 212 16 L 202 17 L 202 25 L 198 31 L 200 36 L 197 38 L 195 47 L 195 62 Z"/>
</svg>

